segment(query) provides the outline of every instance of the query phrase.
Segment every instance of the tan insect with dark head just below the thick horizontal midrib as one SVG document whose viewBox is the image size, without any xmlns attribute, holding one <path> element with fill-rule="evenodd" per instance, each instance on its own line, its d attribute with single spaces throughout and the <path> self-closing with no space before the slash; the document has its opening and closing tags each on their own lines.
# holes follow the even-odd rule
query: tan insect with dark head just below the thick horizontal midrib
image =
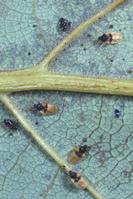
<svg viewBox="0 0 133 199">
<path fill-rule="evenodd" d="M 42 115 L 54 115 L 59 111 L 59 108 L 55 104 L 49 104 L 43 101 L 34 104 L 33 110 L 40 112 Z"/>
</svg>

